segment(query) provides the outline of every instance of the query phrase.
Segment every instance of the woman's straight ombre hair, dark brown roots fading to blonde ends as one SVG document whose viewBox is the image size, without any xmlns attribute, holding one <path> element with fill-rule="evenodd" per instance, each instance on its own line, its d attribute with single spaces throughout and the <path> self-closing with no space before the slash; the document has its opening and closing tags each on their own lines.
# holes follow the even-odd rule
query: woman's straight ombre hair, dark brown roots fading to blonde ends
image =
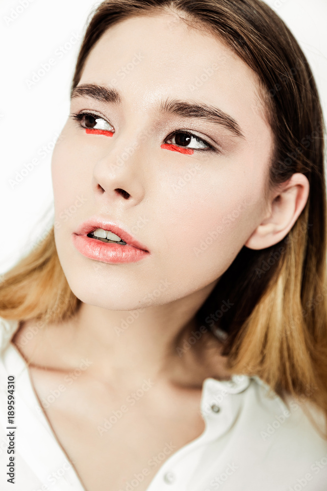
<svg viewBox="0 0 327 491">
<path fill-rule="evenodd" d="M 71 88 L 109 27 L 167 13 L 217 36 L 256 73 L 274 135 L 268 189 L 279 189 L 295 172 L 310 184 L 287 236 L 261 250 L 243 246 L 196 321 L 225 333 L 223 355 L 232 373 L 258 376 L 282 397 L 308 396 L 327 417 L 325 126 L 312 72 L 288 27 L 260 0 L 106 0 L 88 19 Z M 229 308 L 220 310 L 223 300 Z M 0 315 L 60 322 L 79 304 L 59 263 L 52 227 L 41 246 L 5 274 Z"/>
</svg>

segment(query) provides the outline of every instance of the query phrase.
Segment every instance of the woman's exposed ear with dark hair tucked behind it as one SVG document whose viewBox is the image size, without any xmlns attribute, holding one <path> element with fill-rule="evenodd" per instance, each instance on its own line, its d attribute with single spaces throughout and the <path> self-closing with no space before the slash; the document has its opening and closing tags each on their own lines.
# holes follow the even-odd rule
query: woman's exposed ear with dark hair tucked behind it
<svg viewBox="0 0 327 491">
<path fill-rule="evenodd" d="M 309 181 L 296 172 L 283 183 L 268 203 L 268 213 L 245 243 L 250 249 L 264 249 L 281 241 L 300 216 L 309 196 Z"/>
</svg>

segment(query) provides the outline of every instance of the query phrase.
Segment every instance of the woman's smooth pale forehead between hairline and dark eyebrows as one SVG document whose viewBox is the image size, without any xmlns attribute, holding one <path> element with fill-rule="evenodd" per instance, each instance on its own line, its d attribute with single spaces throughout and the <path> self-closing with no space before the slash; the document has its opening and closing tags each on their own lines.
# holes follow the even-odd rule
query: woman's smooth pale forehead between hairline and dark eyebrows
<svg viewBox="0 0 327 491">
<path fill-rule="evenodd" d="M 116 87 L 140 111 L 172 97 L 222 109 L 249 137 L 270 132 L 253 70 L 218 37 L 173 14 L 110 27 L 91 50 L 79 84 L 92 82 Z"/>
</svg>

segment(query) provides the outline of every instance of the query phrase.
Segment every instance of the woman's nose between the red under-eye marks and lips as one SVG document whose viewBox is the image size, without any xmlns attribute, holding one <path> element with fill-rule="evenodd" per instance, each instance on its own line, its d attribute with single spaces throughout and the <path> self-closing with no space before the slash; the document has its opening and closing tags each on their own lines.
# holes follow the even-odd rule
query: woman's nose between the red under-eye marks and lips
<svg viewBox="0 0 327 491">
<path fill-rule="evenodd" d="M 93 189 L 102 204 L 128 201 L 128 205 L 135 206 L 144 198 L 147 159 L 139 134 L 139 131 L 134 135 L 129 132 L 126 137 L 114 134 L 115 140 L 109 142 L 94 165 Z"/>
</svg>

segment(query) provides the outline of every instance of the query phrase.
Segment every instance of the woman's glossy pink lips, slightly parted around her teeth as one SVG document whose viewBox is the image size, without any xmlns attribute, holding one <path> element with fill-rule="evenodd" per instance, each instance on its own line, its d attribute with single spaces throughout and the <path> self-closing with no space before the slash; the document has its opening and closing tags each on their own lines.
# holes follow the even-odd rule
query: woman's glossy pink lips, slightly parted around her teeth
<svg viewBox="0 0 327 491">
<path fill-rule="evenodd" d="M 97 228 L 103 228 L 103 230 L 108 230 L 118 235 L 126 242 L 126 246 L 87 237 L 87 234 Z M 97 218 L 91 218 L 82 223 L 78 230 L 72 234 L 72 240 L 74 246 L 81 254 L 105 263 L 131 263 L 139 261 L 150 254 L 146 246 L 138 242 L 118 225 Z"/>
</svg>

